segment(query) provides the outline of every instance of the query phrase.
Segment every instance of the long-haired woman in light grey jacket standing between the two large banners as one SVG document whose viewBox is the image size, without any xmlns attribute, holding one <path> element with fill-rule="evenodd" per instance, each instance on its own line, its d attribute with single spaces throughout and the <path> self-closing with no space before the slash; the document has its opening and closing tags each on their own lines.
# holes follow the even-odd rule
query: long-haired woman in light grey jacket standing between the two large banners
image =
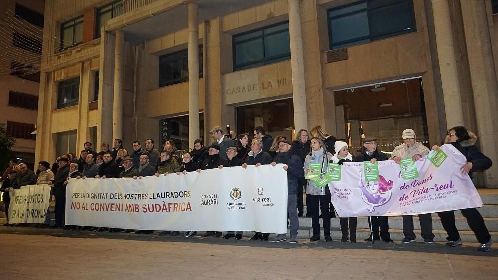
<svg viewBox="0 0 498 280">
<path fill-rule="evenodd" d="M 321 164 L 321 172 L 327 171 L 327 163 L 332 159 L 332 154 L 327 152 L 325 145 L 319 137 L 313 137 L 310 140 L 311 151 L 304 160 L 305 176 L 310 172 L 311 163 Z M 311 210 L 311 226 L 313 227 L 313 236 L 310 241 L 320 240 L 320 215 L 318 209 L 322 211 L 323 217 L 323 234 L 325 241 L 332 241 L 330 237 L 330 190 L 327 186 L 318 187 L 313 180 L 308 180 L 306 186 L 306 196 L 309 196 Z"/>
</svg>

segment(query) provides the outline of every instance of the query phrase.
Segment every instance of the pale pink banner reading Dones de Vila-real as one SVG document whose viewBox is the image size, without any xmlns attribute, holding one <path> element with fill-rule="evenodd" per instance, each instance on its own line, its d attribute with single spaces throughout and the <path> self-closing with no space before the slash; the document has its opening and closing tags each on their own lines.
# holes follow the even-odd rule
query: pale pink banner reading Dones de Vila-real
<svg viewBox="0 0 498 280">
<path fill-rule="evenodd" d="M 403 180 L 393 160 L 378 162 L 379 181 L 365 182 L 363 163 L 344 163 L 341 181 L 329 183 L 340 217 L 400 216 L 483 206 L 468 175 L 466 158 L 452 145 L 440 147 L 448 157 L 436 168 L 427 157 L 416 162 L 419 176 Z M 434 151 L 430 152 L 431 154 Z M 429 154 L 429 155 L 431 155 Z"/>
</svg>

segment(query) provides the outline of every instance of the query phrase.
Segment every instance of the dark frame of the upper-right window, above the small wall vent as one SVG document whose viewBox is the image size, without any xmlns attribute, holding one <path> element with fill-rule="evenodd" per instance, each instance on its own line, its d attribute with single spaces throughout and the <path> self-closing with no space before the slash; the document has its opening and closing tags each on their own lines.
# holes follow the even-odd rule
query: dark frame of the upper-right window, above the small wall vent
<svg viewBox="0 0 498 280">
<path fill-rule="evenodd" d="M 373 5 L 372 1 L 375 1 L 375 0 L 360 0 L 360 1 L 356 1 L 356 2 L 350 3 L 350 4 L 346 4 L 346 5 L 342 5 L 342 6 L 330 8 L 330 9 L 327 10 L 327 26 L 328 26 L 329 49 L 330 50 L 352 47 L 352 46 L 360 45 L 360 44 L 363 44 L 363 43 L 348 45 L 348 46 L 344 46 L 344 47 L 334 47 L 334 45 L 336 45 L 336 46 L 337 45 L 344 45 L 344 44 L 353 43 L 353 42 L 361 41 L 361 40 L 365 40 L 365 39 L 369 39 L 369 43 L 370 43 L 370 42 L 373 42 L 373 41 L 382 40 L 382 39 L 386 39 L 386 38 L 390 38 L 390 37 L 394 37 L 394 36 L 398 36 L 398 35 L 413 33 L 413 32 L 417 31 L 417 21 L 416 21 L 416 18 L 415 18 L 415 8 L 414 8 L 414 5 L 413 5 L 413 0 L 388 0 L 388 1 L 382 2 L 382 4 L 376 4 L 376 5 Z M 331 11 L 342 9 L 342 8 L 347 8 L 347 7 L 350 7 L 350 6 L 359 5 L 359 4 L 362 4 L 362 3 L 366 3 L 367 7 L 363 8 L 363 9 L 358 9 L 358 10 L 346 12 L 346 13 L 341 14 L 341 15 L 336 15 L 336 16 L 331 16 L 330 15 Z M 379 9 L 379 8 L 384 8 L 384 7 L 395 5 L 395 4 L 399 4 L 399 3 L 408 3 L 409 6 L 410 6 L 410 11 L 411 11 L 410 12 L 410 21 L 411 21 L 411 24 L 412 24 L 411 28 L 409 30 L 398 30 L 398 31 L 389 32 L 389 33 L 373 34 L 372 33 L 372 25 L 371 25 L 370 12 L 373 11 L 373 10 Z M 367 22 L 368 22 L 368 25 L 369 25 L 368 26 L 369 27 L 369 34 L 368 34 L 368 36 L 356 37 L 356 38 L 353 38 L 353 39 L 343 40 L 343 41 L 339 41 L 339 42 L 335 42 L 334 43 L 333 36 L 332 36 L 332 23 L 331 23 L 331 21 L 333 19 L 338 19 L 338 18 L 350 16 L 350 15 L 353 15 L 353 14 L 358 14 L 358 13 L 361 13 L 361 12 L 366 12 L 367 13 Z"/>
</svg>

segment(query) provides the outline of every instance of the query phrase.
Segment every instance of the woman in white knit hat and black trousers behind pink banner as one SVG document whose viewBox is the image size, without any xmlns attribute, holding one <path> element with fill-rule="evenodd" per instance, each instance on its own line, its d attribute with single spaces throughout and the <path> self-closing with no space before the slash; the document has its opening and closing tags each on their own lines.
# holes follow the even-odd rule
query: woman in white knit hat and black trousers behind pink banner
<svg viewBox="0 0 498 280">
<path fill-rule="evenodd" d="M 334 151 L 336 152 L 330 162 L 337 163 L 342 165 L 344 162 L 352 162 L 355 160 L 355 157 L 349 153 L 348 143 L 343 141 L 336 141 L 334 144 Z M 351 243 L 356 242 L 356 224 L 358 221 L 358 217 L 348 217 L 348 218 L 339 218 L 339 222 L 341 224 L 341 242 L 348 242 L 348 231 L 350 235 Z M 349 224 L 349 229 L 348 229 Z"/>
</svg>

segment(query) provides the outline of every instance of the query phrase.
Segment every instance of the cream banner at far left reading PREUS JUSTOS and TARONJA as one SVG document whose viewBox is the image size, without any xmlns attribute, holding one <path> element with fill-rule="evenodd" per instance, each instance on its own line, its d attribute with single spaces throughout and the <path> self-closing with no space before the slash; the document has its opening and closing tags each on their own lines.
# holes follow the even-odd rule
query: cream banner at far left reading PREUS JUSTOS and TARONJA
<svg viewBox="0 0 498 280">
<path fill-rule="evenodd" d="M 45 222 L 50 199 L 47 184 L 22 186 L 10 191 L 8 215 L 10 224 Z"/>
</svg>

